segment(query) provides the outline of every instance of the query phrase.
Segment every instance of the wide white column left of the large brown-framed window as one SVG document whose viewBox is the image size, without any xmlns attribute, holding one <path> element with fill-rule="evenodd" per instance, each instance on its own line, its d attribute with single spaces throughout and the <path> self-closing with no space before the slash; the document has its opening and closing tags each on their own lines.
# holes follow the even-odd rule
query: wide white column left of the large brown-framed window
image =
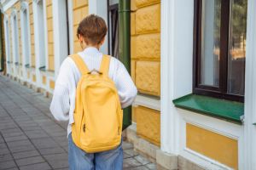
<svg viewBox="0 0 256 170">
<path fill-rule="evenodd" d="M 178 153 L 181 131 L 172 100 L 192 93 L 193 13 L 193 1 L 161 1 L 160 134 L 161 150 L 170 154 Z"/>
</svg>

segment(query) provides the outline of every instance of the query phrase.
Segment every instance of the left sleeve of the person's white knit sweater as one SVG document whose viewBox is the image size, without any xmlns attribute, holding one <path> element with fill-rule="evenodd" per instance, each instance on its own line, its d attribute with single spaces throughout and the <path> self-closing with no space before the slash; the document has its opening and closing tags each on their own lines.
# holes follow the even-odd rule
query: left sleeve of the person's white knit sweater
<svg viewBox="0 0 256 170">
<path fill-rule="evenodd" d="M 73 81 L 72 69 L 68 59 L 61 64 L 59 75 L 55 82 L 55 90 L 49 107 L 51 114 L 57 121 L 67 121 L 69 119 L 69 83 Z"/>
</svg>

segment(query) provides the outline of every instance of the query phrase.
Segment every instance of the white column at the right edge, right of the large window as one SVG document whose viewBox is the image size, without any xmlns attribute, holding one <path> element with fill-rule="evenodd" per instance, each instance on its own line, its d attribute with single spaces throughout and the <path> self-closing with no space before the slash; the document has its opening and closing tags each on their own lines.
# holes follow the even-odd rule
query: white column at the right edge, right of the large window
<svg viewBox="0 0 256 170">
<path fill-rule="evenodd" d="M 245 81 L 244 163 L 241 169 L 256 168 L 256 1 L 247 5 L 247 54 Z"/>
</svg>

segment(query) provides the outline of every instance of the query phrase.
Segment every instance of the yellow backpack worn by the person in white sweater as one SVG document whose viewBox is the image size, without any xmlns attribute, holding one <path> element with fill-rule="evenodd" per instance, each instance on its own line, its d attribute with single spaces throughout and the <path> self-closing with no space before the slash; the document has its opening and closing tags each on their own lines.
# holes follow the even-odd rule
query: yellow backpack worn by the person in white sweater
<svg viewBox="0 0 256 170">
<path fill-rule="evenodd" d="M 123 110 L 114 82 L 108 77 L 110 57 L 103 55 L 100 71 L 89 71 L 79 54 L 71 56 L 81 72 L 72 138 L 87 153 L 113 150 L 121 142 Z"/>
</svg>

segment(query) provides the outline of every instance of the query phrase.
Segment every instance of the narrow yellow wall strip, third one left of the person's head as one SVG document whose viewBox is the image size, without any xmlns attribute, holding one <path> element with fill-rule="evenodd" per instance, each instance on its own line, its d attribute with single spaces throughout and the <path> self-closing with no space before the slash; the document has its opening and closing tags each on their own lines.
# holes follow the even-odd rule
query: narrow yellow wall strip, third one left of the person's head
<svg viewBox="0 0 256 170">
<path fill-rule="evenodd" d="M 30 22 L 30 34 L 31 34 L 31 66 L 36 66 L 35 56 L 35 36 L 34 36 L 34 20 L 33 20 L 33 8 L 32 0 L 29 0 L 29 22 Z"/>
</svg>

